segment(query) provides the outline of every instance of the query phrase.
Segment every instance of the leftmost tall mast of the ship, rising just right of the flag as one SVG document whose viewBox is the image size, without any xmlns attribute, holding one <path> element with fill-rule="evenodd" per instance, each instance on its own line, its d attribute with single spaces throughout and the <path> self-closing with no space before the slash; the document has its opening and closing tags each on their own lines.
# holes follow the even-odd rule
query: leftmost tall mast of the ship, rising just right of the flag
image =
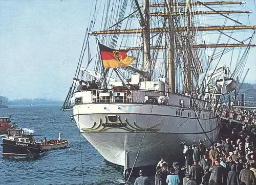
<svg viewBox="0 0 256 185">
<path fill-rule="evenodd" d="M 143 70 L 151 73 L 151 56 L 150 56 L 150 1 L 143 0 L 144 23 L 143 26 Z M 151 77 L 145 78 L 145 81 L 151 81 Z"/>
</svg>

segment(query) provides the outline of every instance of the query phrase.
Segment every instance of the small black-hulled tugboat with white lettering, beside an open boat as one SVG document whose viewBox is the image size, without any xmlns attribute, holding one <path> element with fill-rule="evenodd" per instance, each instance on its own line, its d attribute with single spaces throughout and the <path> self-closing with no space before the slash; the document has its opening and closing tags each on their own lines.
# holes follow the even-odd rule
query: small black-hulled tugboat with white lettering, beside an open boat
<svg viewBox="0 0 256 185">
<path fill-rule="evenodd" d="M 25 134 L 22 128 L 13 126 L 8 129 L 8 135 L 3 138 L 3 157 L 29 156 L 40 153 L 40 146 L 36 144 L 32 134 Z"/>
</svg>

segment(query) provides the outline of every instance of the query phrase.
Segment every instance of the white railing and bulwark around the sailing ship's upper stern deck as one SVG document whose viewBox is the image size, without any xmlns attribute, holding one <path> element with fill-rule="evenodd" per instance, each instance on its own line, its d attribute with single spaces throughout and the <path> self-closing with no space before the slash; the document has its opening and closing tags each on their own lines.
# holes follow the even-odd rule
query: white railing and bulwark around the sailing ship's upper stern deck
<svg viewBox="0 0 256 185">
<path fill-rule="evenodd" d="M 161 97 L 161 104 L 175 105 L 182 108 L 205 110 L 205 101 L 191 98 L 182 94 L 175 94 L 155 90 L 137 89 L 90 89 L 74 93 L 74 104 L 81 103 L 158 103 Z M 159 101 L 160 101 L 159 100 Z M 194 103 L 194 101 L 197 101 Z M 202 103 L 198 103 L 201 101 Z"/>
</svg>

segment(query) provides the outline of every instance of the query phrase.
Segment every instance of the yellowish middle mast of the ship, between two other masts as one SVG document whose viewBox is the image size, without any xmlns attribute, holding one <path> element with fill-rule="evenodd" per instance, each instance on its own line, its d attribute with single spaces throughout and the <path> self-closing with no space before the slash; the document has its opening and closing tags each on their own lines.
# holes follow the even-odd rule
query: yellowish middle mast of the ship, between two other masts
<svg viewBox="0 0 256 185">
<path fill-rule="evenodd" d="M 170 92 L 175 93 L 175 46 L 174 46 L 174 24 L 173 24 L 173 2 L 174 0 L 168 0 L 168 29 L 169 29 L 169 44 L 168 44 L 168 72 L 169 72 L 169 85 Z"/>
</svg>

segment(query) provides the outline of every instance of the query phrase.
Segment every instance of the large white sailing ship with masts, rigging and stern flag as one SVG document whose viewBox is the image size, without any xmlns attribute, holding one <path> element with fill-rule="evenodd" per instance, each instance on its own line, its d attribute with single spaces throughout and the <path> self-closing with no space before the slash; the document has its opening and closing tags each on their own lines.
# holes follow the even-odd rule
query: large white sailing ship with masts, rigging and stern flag
<svg viewBox="0 0 256 185">
<path fill-rule="evenodd" d="M 255 46 L 256 26 L 238 20 L 237 15 L 250 13 L 243 5 L 193 0 L 129 5 L 123 0 L 103 6 L 96 1 L 62 109 L 73 111 L 80 133 L 124 172 L 156 165 L 160 155 L 173 161 L 182 144 L 216 142 L 223 97 L 236 88 L 233 78 Z M 222 10 L 227 6 L 242 10 Z M 214 25 L 209 25 L 208 15 L 223 19 L 211 19 Z M 234 32 L 245 29 L 251 35 L 237 39 Z M 215 35 L 209 38 L 208 31 Z M 237 47 L 239 56 L 233 53 Z M 221 60 L 230 66 L 220 65 Z"/>
</svg>

